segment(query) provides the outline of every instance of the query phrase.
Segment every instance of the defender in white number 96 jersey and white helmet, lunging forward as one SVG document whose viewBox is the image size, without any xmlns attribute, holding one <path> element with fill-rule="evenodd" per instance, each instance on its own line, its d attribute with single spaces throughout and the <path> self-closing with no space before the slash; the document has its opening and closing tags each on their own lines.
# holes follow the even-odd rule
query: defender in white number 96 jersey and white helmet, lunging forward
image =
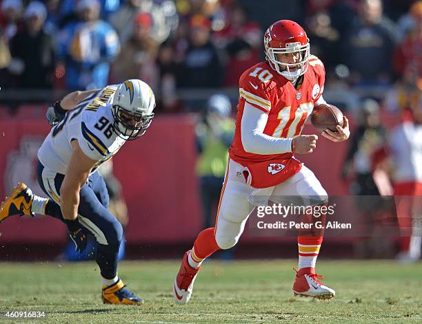
<svg viewBox="0 0 422 324">
<path fill-rule="evenodd" d="M 94 235 L 104 303 L 140 305 L 143 300 L 117 277 L 123 229 L 108 210 L 106 184 L 95 170 L 125 141 L 143 136 L 154 107 L 152 89 L 137 79 L 68 94 L 49 108 L 50 125 L 57 125 L 38 151 L 38 181 L 49 198 L 18 184 L 1 204 L 0 222 L 19 214 L 60 219 L 80 252 L 86 248 L 87 235 Z"/>
</svg>

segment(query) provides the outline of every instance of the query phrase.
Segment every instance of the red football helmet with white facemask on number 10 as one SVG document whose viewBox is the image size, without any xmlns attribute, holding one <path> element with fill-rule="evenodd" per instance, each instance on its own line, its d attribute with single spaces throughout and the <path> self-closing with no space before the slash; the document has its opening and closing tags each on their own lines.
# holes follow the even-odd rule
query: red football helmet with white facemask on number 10
<svg viewBox="0 0 422 324">
<path fill-rule="evenodd" d="M 288 80 L 296 80 L 308 69 L 309 39 L 299 23 L 291 20 L 280 20 L 273 23 L 265 32 L 264 46 L 268 63 L 277 73 Z M 280 62 L 276 54 L 283 53 L 299 53 L 299 62 Z"/>
</svg>

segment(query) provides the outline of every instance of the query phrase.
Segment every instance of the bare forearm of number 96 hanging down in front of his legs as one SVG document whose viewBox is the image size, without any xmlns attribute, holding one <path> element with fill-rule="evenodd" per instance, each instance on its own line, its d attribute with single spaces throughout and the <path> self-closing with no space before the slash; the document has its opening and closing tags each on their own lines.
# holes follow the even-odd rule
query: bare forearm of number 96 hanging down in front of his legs
<svg viewBox="0 0 422 324">
<path fill-rule="evenodd" d="M 91 169 L 97 161 L 88 158 L 83 153 L 77 140 L 72 141 L 71 144 L 72 155 L 60 188 L 60 208 L 64 219 L 74 221 L 78 215 L 79 191 L 86 184 Z"/>
</svg>

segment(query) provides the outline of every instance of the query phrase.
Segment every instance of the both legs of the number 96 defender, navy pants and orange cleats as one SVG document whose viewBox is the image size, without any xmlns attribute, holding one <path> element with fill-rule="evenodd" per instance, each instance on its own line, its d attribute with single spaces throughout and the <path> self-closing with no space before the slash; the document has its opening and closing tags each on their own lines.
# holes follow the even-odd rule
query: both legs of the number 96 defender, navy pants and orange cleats
<svg viewBox="0 0 422 324">
<path fill-rule="evenodd" d="M 65 222 L 61 213 L 60 187 L 64 175 L 37 166 L 37 177 L 41 189 L 50 197 L 32 194 L 26 184 L 18 184 L 12 195 L 1 204 L 0 221 L 11 215 L 51 215 Z M 101 176 L 94 173 L 88 184 L 81 188 L 78 210 L 79 222 L 97 239 L 96 261 L 103 277 L 103 301 L 105 303 L 143 303 L 124 287 L 117 277 L 117 260 L 123 229 L 117 219 L 108 211 L 108 192 Z"/>
</svg>

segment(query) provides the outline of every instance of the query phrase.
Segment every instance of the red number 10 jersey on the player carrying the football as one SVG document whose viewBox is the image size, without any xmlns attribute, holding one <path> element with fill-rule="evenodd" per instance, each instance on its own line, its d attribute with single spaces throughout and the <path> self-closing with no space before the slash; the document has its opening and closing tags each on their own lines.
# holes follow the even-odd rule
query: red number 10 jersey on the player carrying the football
<svg viewBox="0 0 422 324">
<path fill-rule="evenodd" d="M 291 158 L 293 153 L 254 154 L 243 149 L 241 120 L 245 102 L 268 114 L 264 134 L 277 138 L 294 138 L 301 134 L 306 119 L 312 113 L 314 102 L 323 93 L 325 69 L 316 56 L 309 58 L 308 70 L 299 78 L 296 89 L 286 78 L 274 71 L 267 62 L 247 69 L 239 79 L 239 104 L 236 130 L 229 149 L 230 158 L 240 164 Z"/>
</svg>

